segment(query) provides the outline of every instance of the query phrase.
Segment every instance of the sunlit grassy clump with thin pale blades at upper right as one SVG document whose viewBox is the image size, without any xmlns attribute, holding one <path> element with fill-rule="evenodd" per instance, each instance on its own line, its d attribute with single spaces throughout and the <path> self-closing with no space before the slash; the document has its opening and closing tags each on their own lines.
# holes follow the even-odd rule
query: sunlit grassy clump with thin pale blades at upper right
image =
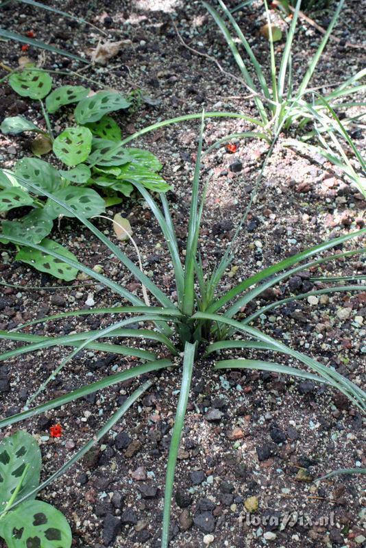
<svg viewBox="0 0 366 548">
<path fill-rule="evenodd" d="M 324 53 L 334 26 L 341 14 L 344 0 L 336 3 L 336 9 L 328 29 L 326 29 L 319 47 L 317 47 L 313 57 L 310 58 L 304 69 L 304 73 L 300 77 L 300 83 L 297 86 L 295 86 L 295 75 L 293 74 L 292 47 L 302 0 L 297 0 L 295 3 L 291 23 L 289 23 L 286 32 L 283 53 L 279 56 L 276 55 L 274 44 L 277 40 L 281 40 L 282 33 L 278 27 L 271 23 L 271 12 L 267 0 L 264 0 L 270 55 L 268 77 L 265 69 L 258 62 L 254 50 L 249 45 L 234 14 L 227 8 L 224 1 L 217 0 L 221 12 L 206 1 L 203 4 L 215 23 L 217 23 L 230 48 L 241 72 L 243 85 L 254 96 L 254 103 L 259 114 L 257 122 L 262 123 L 261 132 L 267 134 L 271 141 L 276 140 L 280 132 L 290 132 L 290 130 L 296 132 L 296 139 L 292 139 L 288 144 L 293 145 L 296 149 L 316 151 L 324 155 L 330 162 L 341 168 L 343 173 L 356 184 L 358 190 L 366 198 L 365 162 L 363 162 L 361 154 L 357 151 L 347 133 L 347 127 L 356 124 L 358 119 L 365 115 L 365 112 L 356 114 L 356 116 L 343 116 L 342 121 L 340 121 L 340 116 L 337 114 L 345 108 L 362 108 L 366 105 L 364 100 L 353 99 L 354 95 L 361 94 L 366 90 L 366 85 L 360 83 L 365 79 L 366 69 L 361 69 L 356 74 L 345 78 L 341 84 L 336 86 L 328 86 L 324 82 L 324 88 L 332 88 L 324 96 L 319 95 L 316 89 L 310 87 L 310 82 L 315 75 L 321 55 Z M 233 32 L 230 31 L 230 25 Z M 350 153 L 354 155 L 361 170 L 361 175 L 358 173 L 357 168 L 354 169 L 350 159 L 347 158 L 345 148 L 348 146 L 350 146 Z"/>
</svg>

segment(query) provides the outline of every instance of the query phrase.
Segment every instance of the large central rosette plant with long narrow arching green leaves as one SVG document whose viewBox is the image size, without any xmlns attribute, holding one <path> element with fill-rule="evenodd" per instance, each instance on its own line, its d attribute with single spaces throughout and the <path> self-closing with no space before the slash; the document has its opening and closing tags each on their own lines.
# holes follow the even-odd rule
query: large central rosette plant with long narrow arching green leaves
<svg viewBox="0 0 366 548">
<path fill-rule="evenodd" d="M 96 308 L 92 310 L 75 310 L 74 312 L 64 312 L 53 316 L 48 316 L 42 319 L 29 321 L 11 332 L 1 332 L 0 337 L 9 341 L 19 341 L 25 343 L 21 347 L 11 348 L 1 354 L 0 360 L 18 358 L 24 353 L 46 349 L 48 347 L 74 347 L 71 353 L 67 354 L 57 366 L 50 377 L 42 383 L 40 388 L 26 403 L 25 409 L 13 416 L 7 416 L 0 420 L 0 428 L 4 429 L 10 425 L 14 425 L 29 419 L 37 414 L 49 412 L 60 406 L 65 406 L 67 403 L 82 398 L 96 390 L 102 390 L 108 386 L 121 383 L 126 379 L 136 379 L 146 373 L 158 373 L 161 369 L 173 367 L 174 370 L 181 370 L 182 384 L 180 386 L 180 395 L 178 406 L 175 414 L 175 423 L 171 436 L 171 445 L 169 449 L 169 457 L 167 461 L 167 481 L 164 494 L 164 512 L 162 522 L 161 546 L 167 548 L 169 544 L 169 521 L 171 514 L 171 497 L 173 493 L 173 478 L 175 473 L 175 464 L 178 457 L 178 449 L 180 446 L 180 438 L 186 414 L 186 406 L 191 388 L 191 378 L 193 368 L 199 366 L 199 360 L 206 356 L 217 356 L 214 369 L 258 369 L 262 371 L 272 371 L 280 375 L 290 375 L 291 377 L 300 377 L 301 379 L 311 379 L 314 382 L 325 384 L 331 389 L 339 390 L 343 395 L 350 399 L 352 405 L 361 412 L 366 410 L 366 394 L 359 386 L 351 382 L 349 379 L 341 375 L 334 367 L 326 366 L 314 358 L 294 350 L 280 340 L 266 334 L 265 331 L 254 327 L 254 320 L 260 316 L 265 319 L 265 313 L 276 306 L 297 299 L 306 299 L 310 295 L 321 295 L 332 292 L 354 292 L 364 290 L 365 286 L 357 280 L 354 284 L 330 285 L 332 279 L 323 279 L 323 282 L 328 282 L 326 286 L 320 289 L 301 294 L 291 295 L 285 299 L 281 299 L 276 303 L 271 303 L 264 308 L 259 308 L 249 316 L 245 316 L 245 306 L 249 303 L 256 304 L 258 297 L 263 291 L 276 286 L 291 275 L 304 269 L 314 270 L 317 265 L 326 262 L 337 261 L 340 258 L 356 256 L 364 253 L 365 247 L 354 249 L 352 251 L 343 251 L 340 247 L 347 240 L 361 240 L 361 236 L 366 234 L 366 229 L 358 230 L 352 234 L 345 234 L 334 238 L 328 242 L 315 245 L 297 253 L 296 255 L 285 258 L 284 260 L 274 263 L 267 268 L 253 273 L 249 277 L 243 279 L 239 284 L 233 286 L 230 290 L 221 292 L 221 280 L 227 271 L 228 265 L 233 258 L 233 242 L 226 249 L 223 258 L 212 270 L 212 273 L 206 273 L 199 258 L 199 229 L 204 211 L 205 195 L 207 185 L 204 189 L 200 189 L 200 165 L 202 160 L 202 141 L 204 133 L 204 119 L 202 116 L 202 126 L 199 136 L 199 145 L 197 151 L 197 162 L 195 165 L 195 173 L 193 177 L 192 195 L 191 195 L 191 210 L 188 222 L 188 233 L 186 238 L 186 253 L 183 260 L 178 249 L 178 242 L 175 236 L 175 229 L 169 204 L 166 195 L 160 194 L 161 207 L 147 190 L 138 182 L 134 185 L 145 198 L 151 212 L 154 214 L 156 221 L 160 225 L 162 234 L 167 243 L 170 253 L 171 264 L 175 275 L 177 300 L 173 301 L 164 294 L 154 282 L 138 268 L 127 255 L 114 245 L 102 232 L 100 232 L 90 221 L 84 216 L 75 212 L 77 219 L 84 223 L 85 227 L 90 229 L 90 232 L 121 261 L 121 264 L 130 271 L 130 273 L 138 279 L 144 288 L 142 295 L 143 299 L 133 294 L 127 288 L 117 284 L 112 279 L 96 273 L 89 269 L 84 264 L 77 262 L 75 259 L 64 258 L 53 250 L 45 250 L 40 244 L 32 243 L 30 247 L 40 251 L 41 253 L 49 253 L 55 259 L 64 260 L 69 266 L 80 271 L 84 271 L 90 277 L 93 277 L 98 283 L 110 288 L 119 299 L 124 299 L 130 305 L 115 306 L 114 308 Z M 19 177 L 19 183 L 27 186 L 33 192 L 40 192 L 33 182 Z M 70 206 L 63 202 L 58 197 L 52 195 L 52 192 L 42 189 L 42 194 L 52 200 L 58 208 L 63 208 L 65 212 L 70 211 Z M 239 225 L 236 234 L 241 229 Z M 25 241 L 20 236 L 11 236 L 9 240 L 16 245 L 25 245 Z M 337 253 L 326 254 L 327 251 L 337 249 Z M 363 277 L 364 278 L 364 277 Z M 337 282 L 349 279 L 345 277 L 337 278 Z M 150 303 L 151 299 L 151 303 Z M 239 314 L 240 312 L 240 314 Z M 29 327 L 37 325 L 40 329 L 40 324 L 48 321 L 58 321 L 68 316 L 88 316 L 90 314 L 108 314 L 111 321 L 108 327 L 96 329 L 94 331 L 85 331 L 77 334 L 69 334 L 64 336 L 40 336 L 29 333 Z M 132 328 L 132 324 L 138 328 Z M 141 327 L 145 323 L 145 327 Z M 27 332 L 24 331 L 28 327 Z M 129 343 L 125 346 L 106 343 L 106 339 L 126 338 Z M 103 342 L 101 342 L 103 340 Z M 138 341 L 154 340 L 162 345 L 162 353 L 160 356 L 168 356 L 164 359 L 157 359 L 155 351 L 150 351 L 143 348 L 143 343 L 138 344 Z M 71 362 L 73 357 L 82 349 L 90 349 L 118 353 L 125 356 L 135 356 L 141 360 L 141 364 L 123 369 L 113 375 L 106 375 L 98 382 L 86 384 L 77 390 L 66 393 L 56 399 L 44 401 L 34 406 L 34 399 L 45 390 L 49 382 L 55 379 L 64 366 Z M 232 351 L 234 358 L 220 360 L 220 351 Z M 260 352 L 260 356 L 268 356 L 266 358 L 253 358 L 256 352 Z M 271 360 L 271 355 L 274 353 L 275 360 Z M 113 427 L 125 411 L 140 397 L 141 394 L 148 390 L 154 382 L 154 376 L 145 381 L 138 390 L 136 390 L 123 403 L 123 406 L 115 412 L 106 425 L 95 433 L 95 436 L 82 447 L 75 455 L 66 462 L 62 468 L 49 477 L 40 486 L 34 487 L 24 497 L 15 501 L 10 509 L 16 507 L 25 499 L 34 495 L 40 488 L 50 484 L 70 466 L 79 460 L 85 453 L 93 447 L 103 435 Z M 62 547 L 64 548 L 64 547 Z"/>
</svg>

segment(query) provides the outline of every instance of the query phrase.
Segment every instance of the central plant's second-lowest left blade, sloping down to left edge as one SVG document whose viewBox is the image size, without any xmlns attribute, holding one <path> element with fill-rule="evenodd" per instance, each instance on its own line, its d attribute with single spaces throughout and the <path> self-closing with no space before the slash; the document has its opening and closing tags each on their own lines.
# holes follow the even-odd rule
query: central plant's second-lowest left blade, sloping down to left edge
<svg viewBox="0 0 366 548">
<path fill-rule="evenodd" d="M 82 386 L 82 388 L 77 388 L 67 394 L 59 396 L 58 398 L 51 399 L 45 403 L 41 403 L 40 406 L 36 406 L 32 409 L 27 409 L 21 413 L 14 414 L 12 416 L 7 416 L 5 419 L 0 420 L 0 428 L 5 428 L 5 426 L 10 426 L 25 419 L 29 419 L 32 416 L 39 415 L 50 411 L 51 409 L 56 409 L 58 407 L 66 405 L 70 401 L 75 401 L 77 399 L 83 398 L 88 394 L 93 394 L 97 390 L 103 390 L 103 388 L 108 388 L 108 386 L 113 386 L 114 384 L 119 384 L 125 382 L 128 379 L 134 379 L 134 377 L 139 377 L 140 375 L 145 375 L 145 373 L 151 373 L 152 371 L 158 371 L 159 369 L 165 369 L 170 367 L 172 362 L 170 360 L 158 360 L 156 362 L 149 362 L 148 364 L 138 365 L 127 369 L 126 371 L 121 371 L 121 373 L 116 373 L 115 375 L 110 375 L 108 377 L 103 377 L 100 381 L 92 382 Z"/>
</svg>

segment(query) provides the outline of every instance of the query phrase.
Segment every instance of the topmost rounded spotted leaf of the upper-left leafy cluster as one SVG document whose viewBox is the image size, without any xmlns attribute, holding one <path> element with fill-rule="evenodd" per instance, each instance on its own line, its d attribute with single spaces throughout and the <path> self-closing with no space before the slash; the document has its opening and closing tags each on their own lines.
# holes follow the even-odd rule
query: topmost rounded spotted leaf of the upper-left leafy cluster
<svg viewBox="0 0 366 548">
<path fill-rule="evenodd" d="M 27 69 L 21 73 L 13 73 L 9 84 L 21 97 L 43 99 L 51 91 L 52 78 L 45 71 Z"/>
</svg>

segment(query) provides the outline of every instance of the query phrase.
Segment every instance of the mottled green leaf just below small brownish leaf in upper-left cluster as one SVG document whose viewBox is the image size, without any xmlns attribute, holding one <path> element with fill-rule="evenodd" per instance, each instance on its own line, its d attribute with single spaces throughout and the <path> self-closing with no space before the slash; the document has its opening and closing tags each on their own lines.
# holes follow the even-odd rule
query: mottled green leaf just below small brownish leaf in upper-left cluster
<svg viewBox="0 0 366 548">
<path fill-rule="evenodd" d="M 14 174 L 48 192 L 55 192 L 62 186 L 57 169 L 39 158 L 22 158 L 16 162 Z"/>
</svg>

